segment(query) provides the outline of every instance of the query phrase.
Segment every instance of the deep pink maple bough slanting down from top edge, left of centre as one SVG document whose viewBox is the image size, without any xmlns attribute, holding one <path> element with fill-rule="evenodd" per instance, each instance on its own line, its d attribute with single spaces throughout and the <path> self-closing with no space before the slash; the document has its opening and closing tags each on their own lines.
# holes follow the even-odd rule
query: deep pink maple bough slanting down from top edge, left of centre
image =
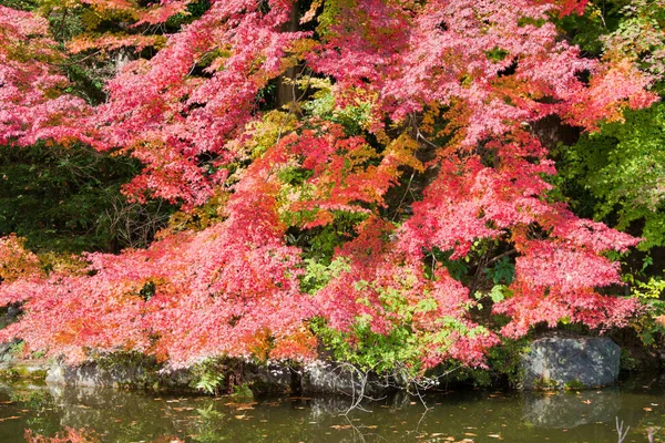
<svg viewBox="0 0 665 443">
<path fill-rule="evenodd" d="M 290 2 L 215 2 L 197 21 L 168 39 L 150 61 L 139 60 L 110 82 L 109 102 L 96 110 L 100 148 L 126 147 L 146 167 L 130 194 L 201 205 L 225 175 L 211 174 L 236 158 L 229 141 L 241 137 L 256 111 L 256 95 L 283 72 L 288 48 L 305 34 L 280 32 Z M 212 59 L 203 62 L 204 58 Z M 203 65 L 201 76 L 192 75 Z"/>
</svg>

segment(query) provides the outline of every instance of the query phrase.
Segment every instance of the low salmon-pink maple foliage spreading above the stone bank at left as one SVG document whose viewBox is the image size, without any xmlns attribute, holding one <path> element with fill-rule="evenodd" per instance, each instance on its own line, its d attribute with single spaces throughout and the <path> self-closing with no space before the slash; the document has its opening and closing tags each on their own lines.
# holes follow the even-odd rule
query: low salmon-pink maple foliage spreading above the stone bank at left
<svg viewBox="0 0 665 443">
<path fill-rule="evenodd" d="M 91 254 L 84 272 L 2 285 L 2 301 L 20 299 L 27 313 L 0 337 L 71 362 L 92 350 L 153 353 L 172 368 L 212 356 L 307 358 L 314 305 L 299 290 L 299 250 L 284 245 L 268 171 L 253 165 L 223 224 L 146 250 Z M 142 292 L 146 285 L 154 295 Z"/>
</svg>

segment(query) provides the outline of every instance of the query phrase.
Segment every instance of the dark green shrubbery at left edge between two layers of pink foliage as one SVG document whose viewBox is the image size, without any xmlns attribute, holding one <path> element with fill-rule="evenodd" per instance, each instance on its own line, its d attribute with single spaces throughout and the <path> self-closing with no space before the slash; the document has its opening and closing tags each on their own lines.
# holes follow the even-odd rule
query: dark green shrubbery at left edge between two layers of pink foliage
<svg viewBox="0 0 665 443">
<path fill-rule="evenodd" d="M 16 233 L 41 251 L 142 246 L 170 209 L 130 204 L 120 194 L 139 168 L 135 161 L 85 147 L 2 146 L 0 235 Z"/>
</svg>

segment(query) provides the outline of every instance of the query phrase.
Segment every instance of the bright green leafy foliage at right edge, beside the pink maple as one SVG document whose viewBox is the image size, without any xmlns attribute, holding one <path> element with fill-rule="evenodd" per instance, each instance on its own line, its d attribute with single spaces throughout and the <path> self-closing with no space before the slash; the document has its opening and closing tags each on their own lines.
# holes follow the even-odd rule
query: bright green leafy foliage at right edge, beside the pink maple
<svg viewBox="0 0 665 443">
<path fill-rule="evenodd" d="M 665 245 L 665 105 L 628 111 L 625 123 L 585 134 L 563 150 L 560 185 L 577 214 Z"/>
</svg>

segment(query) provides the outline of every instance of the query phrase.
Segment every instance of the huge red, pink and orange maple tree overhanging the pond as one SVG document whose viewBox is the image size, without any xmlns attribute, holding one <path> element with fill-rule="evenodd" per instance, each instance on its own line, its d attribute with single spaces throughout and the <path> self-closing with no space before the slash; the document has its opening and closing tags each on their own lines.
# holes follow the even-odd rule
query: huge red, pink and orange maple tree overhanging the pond
<svg viewBox="0 0 665 443">
<path fill-rule="evenodd" d="M 81 4 L 141 27 L 190 3 Z M 298 7 L 300 31 L 288 25 Z M 634 60 L 587 59 L 560 38 L 554 20 L 585 7 L 214 1 L 151 40 L 154 56 L 126 64 L 99 105 L 68 91 L 58 74 L 66 53 L 44 20 L 0 7 L 0 141 L 131 155 L 144 168 L 125 193 L 182 208 L 146 249 L 48 271 L 16 237 L 3 240 L 3 266 L 25 265 L 2 276 L 0 303 L 24 315 L 0 337 L 72 362 L 135 350 L 178 368 L 215 356 L 314 358 L 318 329 L 350 350 L 392 337 L 407 349 L 397 360 L 419 370 L 482 365 L 501 336 L 535 324 L 624 326 L 635 301 L 596 288 L 621 281 L 607 253 L 638 239 L 551 195 L 554 164 L 531 131 L 548 116 L 595 131 L 657 99 Z M 119 39 L 81 37 L 69 50 L 141 55 L 149 44 Z M 300 101 L 270 109 L 278 81 Z M 492 297 L 493 313 L 510 318 L 501 329 L 473 316 L 488 288 L 454 271 L 481 249 L 477 274 L 515 257 L 514 278 Z"/>
</svg>

